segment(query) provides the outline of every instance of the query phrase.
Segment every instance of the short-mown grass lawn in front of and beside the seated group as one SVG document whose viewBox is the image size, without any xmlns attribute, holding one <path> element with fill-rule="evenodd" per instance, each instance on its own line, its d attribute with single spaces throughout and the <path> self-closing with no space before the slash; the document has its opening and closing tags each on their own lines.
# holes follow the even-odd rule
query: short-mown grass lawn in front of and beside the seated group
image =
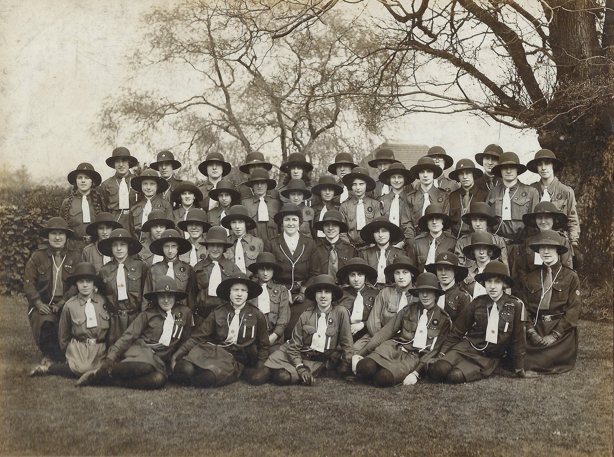
<svg viewBox="0 0 614 457">
<path fill-rule="evenodd" d="M 582 321 L 575 370 L 531 380 L 144 392 L 28 378 L 25 300 L 0 306 L 2 455 L 612 455 L 611 322 Z"/>
</svg>

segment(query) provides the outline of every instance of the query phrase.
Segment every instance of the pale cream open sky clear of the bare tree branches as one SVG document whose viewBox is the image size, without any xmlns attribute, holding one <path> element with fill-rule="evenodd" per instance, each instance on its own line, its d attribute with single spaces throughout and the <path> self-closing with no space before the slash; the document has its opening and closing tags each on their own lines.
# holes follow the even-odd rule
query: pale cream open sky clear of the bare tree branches
<svg viewBox="0 0 614 457">
<path fill-rule="evenodd" d="M 104 159 L 113 148 L 93 131 L 96 116 L 129 76 L 124 56 L 139 44 L 139 17 L 163 4 L 169 1 L 0 2 L 0 160 L 25 164 L 41 180 L 66 179 L 79 162 L 110 176 Z M 385 130 L 391 140 L 443 146 L 456 160 L 473 158 L 489 143 L 518 152 L 524 163 L 539 149 L 533 131 L 468 115 L 411 115 Z M 121 145 L 139 160 L 155 155 L 139 144 Z"/>
</svg>

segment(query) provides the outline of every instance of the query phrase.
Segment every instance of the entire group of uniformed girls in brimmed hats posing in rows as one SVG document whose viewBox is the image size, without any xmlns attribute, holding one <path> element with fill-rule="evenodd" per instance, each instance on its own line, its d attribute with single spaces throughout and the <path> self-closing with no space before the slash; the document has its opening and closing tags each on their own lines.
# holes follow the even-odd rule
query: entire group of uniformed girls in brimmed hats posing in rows
<svg viewBox="0 0 614 457">
<path fill-rule="evenodd" d="M 313 176 L 295 152 L 277 182 L 260 152 L 211 152 L 199 186 L 168 150 L 139 176 L 126 147 L 103 173 L 79 163 L 25 267 L 29 374 L 160 389 L 567 372 L 582 253 L 565 164 L 496 144 L 473 159 L 434 146 L 406 166 L 380 147 L 375 180 L 345 152 Z"/>
</svg>

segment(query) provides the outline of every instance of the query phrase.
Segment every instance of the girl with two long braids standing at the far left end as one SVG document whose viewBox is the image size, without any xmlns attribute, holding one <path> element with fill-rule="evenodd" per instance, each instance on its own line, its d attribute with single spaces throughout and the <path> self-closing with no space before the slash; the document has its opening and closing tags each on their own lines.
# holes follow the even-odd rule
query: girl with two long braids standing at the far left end
<svg viewBox="0 0 614 457">
<path fill-rule="evenodd" d="M 86 233 L 87 226 L 102 211 L 98 189 L 102 178 L 90 163 L 80 163 L 68 173 L 68 182 L 72 184 L 72 190 L 60 205 L 60 217 L 75 232 L 70 247 L 80 255 L 91 243 L 91 236 Z"/>
</svg>

